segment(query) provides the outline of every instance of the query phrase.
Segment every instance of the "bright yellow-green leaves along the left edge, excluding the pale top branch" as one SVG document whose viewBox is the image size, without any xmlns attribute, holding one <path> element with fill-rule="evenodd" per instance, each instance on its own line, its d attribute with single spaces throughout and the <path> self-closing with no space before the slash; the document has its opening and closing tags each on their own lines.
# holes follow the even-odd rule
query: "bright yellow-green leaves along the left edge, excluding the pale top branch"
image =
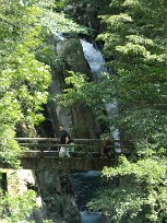
<svg viewBox="0 0 167 223">
<path fill-rule="evenodd" d="M 1 1 L 0 9 L 0 160 L 15 166 L 21 152 L 14 141 L 17 124 L 29 128 L 40 122 L 47 102 L 49 67 L 35 58 L 46 36 L 38 23 L 41 10 L 34 4 Z"/>
</svg>

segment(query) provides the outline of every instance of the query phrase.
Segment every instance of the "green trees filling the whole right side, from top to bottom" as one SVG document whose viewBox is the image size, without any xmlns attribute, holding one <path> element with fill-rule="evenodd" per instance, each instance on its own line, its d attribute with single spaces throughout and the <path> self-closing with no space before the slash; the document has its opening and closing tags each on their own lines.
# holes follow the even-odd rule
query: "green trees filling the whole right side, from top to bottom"
<svg viewBox="0 0 167 223">
<path fill-rule="evenodd" d="M 122 156 L 118 166 L 104 169 L 112 186 L 91 207 L 112 222 L 166 222 L 167 2 L 112 0 L 100 17 L 106 30 L 97 39 L 104 42 L 112 74 L 84 84 L 79 74 L 72 75 L 74 87 L 65 91 L 64 99 L 83 98 L 102 120 L 104 104 L 116 98 L 118 114 L 110 116 L 110 124 L 135 146 L 134 156 Z"/>
</svg>

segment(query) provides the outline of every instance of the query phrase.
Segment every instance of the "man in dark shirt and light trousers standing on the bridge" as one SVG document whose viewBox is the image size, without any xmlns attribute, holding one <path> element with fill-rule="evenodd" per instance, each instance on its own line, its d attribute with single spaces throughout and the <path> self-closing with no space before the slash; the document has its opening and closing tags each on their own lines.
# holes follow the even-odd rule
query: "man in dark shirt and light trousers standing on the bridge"
<svg viewBox="0 0 167 223">
<path fill-rule="evenodd" d="M 61 145 L 60 148 L 59 157 L 70 157 L 69 146 L 67 146 L 70 142 L 69 133 L 64 130 L 63 125 L 59 126 L 59 130 L 61 132 L 60 143 L 64 144 L 64 146 Z"/>
</svg>

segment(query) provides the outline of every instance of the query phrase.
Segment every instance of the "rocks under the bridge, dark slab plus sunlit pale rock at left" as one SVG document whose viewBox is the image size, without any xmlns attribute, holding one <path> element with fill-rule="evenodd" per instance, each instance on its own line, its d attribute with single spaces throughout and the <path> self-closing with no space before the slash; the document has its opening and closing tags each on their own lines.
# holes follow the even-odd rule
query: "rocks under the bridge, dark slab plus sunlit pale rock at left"
<svg viewBox="0 0 167 223">
<path fill-rule="evenodd" d="M 53 223 L 79 223 L 80 214 L 69 172 L 40 169 L 9 171 L 8 192 L 10 196 L 28 189 L 37 192 L 31 220 L 41 223 L 44 219 Z M 12 180 L 11 180 L 12 179 Z"/>
</svg>

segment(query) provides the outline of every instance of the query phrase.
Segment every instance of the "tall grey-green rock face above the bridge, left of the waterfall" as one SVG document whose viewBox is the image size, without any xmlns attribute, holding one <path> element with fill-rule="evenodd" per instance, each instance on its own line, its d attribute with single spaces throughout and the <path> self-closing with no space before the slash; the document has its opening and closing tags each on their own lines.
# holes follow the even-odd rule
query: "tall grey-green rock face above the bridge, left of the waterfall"
<svg viewBox="0 0 167 223">
<path fill-rule="evenodd" d="M 52 42 L 56 54 L 62 61 L 61 68 L 52 70 L 52 83 L 50 95 L 55 97 L 62 94 L 64 89 L 64 78 L 68 71 L 85 73 L 90 80 L 93 79 L 90 66 L 84 57 L 83 48 L 79 38 L 68 38 L 61 42 Z M 95 121 L 92 110 L 82 102 L 71 108 L 48 103 L 48 110 L 55 125 L 56 134 L 59 136 L 58 125 L 63 124 L 71 130 L 73 138 L 96 138 L 99 127 Z"/>
</svg>

